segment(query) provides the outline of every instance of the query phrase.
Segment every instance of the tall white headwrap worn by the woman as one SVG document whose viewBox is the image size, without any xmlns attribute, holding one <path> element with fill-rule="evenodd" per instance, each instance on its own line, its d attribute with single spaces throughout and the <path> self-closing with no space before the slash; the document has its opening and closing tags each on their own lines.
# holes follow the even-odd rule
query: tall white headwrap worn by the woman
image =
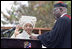
<svg viewBox="0 0 72 49">
<path fill-rule="evenodd" d="M 27 23 L 30 23 L 33 28 L 35 27 L 35 24 L 36 24 L 36 17 L 33 17 L 33 16 L 22 16 L 19 20 L 19 24 L 21 24 L 22 26 L 27 24 Z"/>
</svg>

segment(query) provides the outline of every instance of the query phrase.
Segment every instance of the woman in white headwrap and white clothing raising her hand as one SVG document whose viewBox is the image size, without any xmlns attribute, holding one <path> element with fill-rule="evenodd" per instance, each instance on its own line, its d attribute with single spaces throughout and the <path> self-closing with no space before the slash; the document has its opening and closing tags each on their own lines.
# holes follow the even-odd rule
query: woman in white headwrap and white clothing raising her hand
<svg viewBox="0 0 72 49">
<path fill-rule="evenodd" d="M 16 26 L 15 32 L 11 38 L 30 39 L 30 35 L 37 36 L 38 34 L 32 33 L 36 21 L 36 17 L 22 16 L 22 18 L 19 20 L 19 25 Z M 23 29 L 22 33 L 19 31 L 20 27 Z"/>
</svg>

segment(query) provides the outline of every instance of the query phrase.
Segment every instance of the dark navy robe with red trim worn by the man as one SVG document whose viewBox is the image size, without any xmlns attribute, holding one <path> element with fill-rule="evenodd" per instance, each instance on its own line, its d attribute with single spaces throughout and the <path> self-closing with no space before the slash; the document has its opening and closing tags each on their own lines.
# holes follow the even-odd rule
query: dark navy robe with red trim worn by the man
<svg viewBox="0 0 72 49">
<path fill-rule="evenodd" d="M 60 17 L 52 30 L 37 37 L 47 48 L 71 48 L 71 19 Z"/>
</svg>

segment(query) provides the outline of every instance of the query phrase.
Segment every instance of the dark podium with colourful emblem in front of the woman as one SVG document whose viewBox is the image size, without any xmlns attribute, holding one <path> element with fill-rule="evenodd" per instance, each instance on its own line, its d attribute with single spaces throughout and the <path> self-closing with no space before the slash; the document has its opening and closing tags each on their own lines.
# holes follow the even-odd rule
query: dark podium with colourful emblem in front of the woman
<svg viewBox="0 0 72 49">
<path fill-rule="evenodd" d="M 14 39 L 1 37 L 1 48 L 26 48 L 27 43 L 31 43 L 31 48 L 42 48 L 39 40 L 32 39 Z"/>
</svg>

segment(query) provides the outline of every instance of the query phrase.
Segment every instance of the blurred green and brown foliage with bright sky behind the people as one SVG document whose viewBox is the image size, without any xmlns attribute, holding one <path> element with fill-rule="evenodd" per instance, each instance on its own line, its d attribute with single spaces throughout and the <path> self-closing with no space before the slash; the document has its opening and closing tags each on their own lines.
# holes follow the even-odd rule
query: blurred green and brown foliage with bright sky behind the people
<svg viewBox="0 0 72 49">
<path fill-rule="evenodd" d="M 52 28 L 54 25 L 53 5 L 58 1 L 1 1 L 1 27 L 18 24 L 21 16 L 37 17 L 36 28 Z M 71 15 L 71 1 L 68 14 Z"/>
</svg>

